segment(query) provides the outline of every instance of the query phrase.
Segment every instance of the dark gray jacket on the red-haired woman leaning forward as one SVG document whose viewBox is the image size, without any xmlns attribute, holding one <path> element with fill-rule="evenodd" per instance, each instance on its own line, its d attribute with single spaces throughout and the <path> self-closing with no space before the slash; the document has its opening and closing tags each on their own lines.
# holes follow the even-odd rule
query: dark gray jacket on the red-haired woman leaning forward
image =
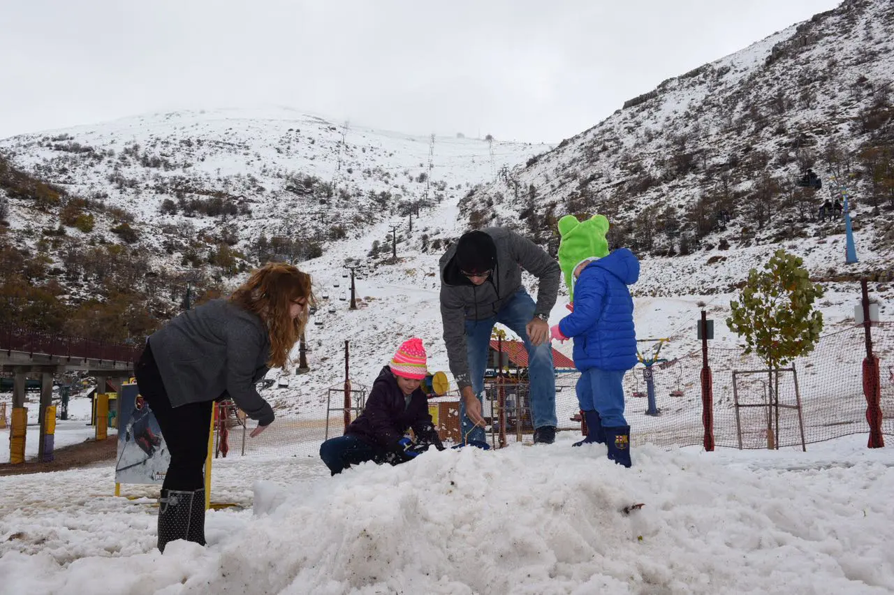
<svg viewBox="0 0 894 595">
<path fill-rule="evenodd" d="M 274 410 L 255 384 L 267 373 L 266 324 L 227 299 L 188 310 L 149 337 L 171 406 L 230 397 L 260 425 Z"/>
</svg>

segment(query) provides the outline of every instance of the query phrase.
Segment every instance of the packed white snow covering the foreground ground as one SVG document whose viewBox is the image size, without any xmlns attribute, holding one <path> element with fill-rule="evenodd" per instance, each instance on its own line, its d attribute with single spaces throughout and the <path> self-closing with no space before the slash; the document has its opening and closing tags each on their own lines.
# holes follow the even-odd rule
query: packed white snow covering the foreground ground
<svg viewBox="0 0 894 595">
<path fill-rule="evenodd" d="M 0 592 L 894 591 L 894 451 L 865 436 L 637 448 L 630 470 L 572 439 L 334 478 L 316 459 L 218 459 L 212 499 L 253 509 L 209 512 L 207 548 L 164 555 L 152 499 L 114 498 L 112 465 L 4 477 Z"/>
</svg>

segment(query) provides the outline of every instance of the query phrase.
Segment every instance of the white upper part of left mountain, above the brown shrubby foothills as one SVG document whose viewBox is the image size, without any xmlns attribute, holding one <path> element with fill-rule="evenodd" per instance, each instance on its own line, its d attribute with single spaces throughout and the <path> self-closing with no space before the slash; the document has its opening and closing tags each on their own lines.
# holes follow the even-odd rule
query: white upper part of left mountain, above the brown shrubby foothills
<svg viewBox="0 0 894 595">
<path fill-rule="evenodd" d="M 33 231 L 60 226 L 80 197 L 96 223 L 89 232 L 66 223 L 68 240 L 121 242 L 112 229 L 132 218 L 133 245 L 168 270 L 204 263 L 224 243 L 254 264 L 262 234 L 303 244 L 272 255 L 293 258 L 374 222 L 393 218 L 402 230 L 417 205 L 459 196 L 549 148 L 413 137 L 284 108 L 156 113 L 0 141 L 16 167 L 69 195 L 51 205 L 12 198 L 14 239 L 33 246 Z"/>
</svg>

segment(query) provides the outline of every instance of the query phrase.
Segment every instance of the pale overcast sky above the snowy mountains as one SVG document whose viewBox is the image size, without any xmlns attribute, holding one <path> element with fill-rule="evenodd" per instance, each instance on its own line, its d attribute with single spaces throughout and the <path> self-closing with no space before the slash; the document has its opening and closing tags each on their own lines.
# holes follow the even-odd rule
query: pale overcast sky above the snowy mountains
<svg viewBox="0 0 894 595">
<path fill-rule="evenodd" d="M 558 141 L 839 2 L 3 4 L 0 138 L 181 108 L 288 105 L 410 133 Z"/>
</svg>

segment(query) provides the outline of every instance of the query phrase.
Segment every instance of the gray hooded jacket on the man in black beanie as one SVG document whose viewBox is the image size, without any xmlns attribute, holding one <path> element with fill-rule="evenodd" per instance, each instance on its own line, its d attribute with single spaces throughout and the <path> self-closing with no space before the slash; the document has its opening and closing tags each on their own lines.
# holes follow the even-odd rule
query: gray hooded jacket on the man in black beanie
<svg viewBox="0 0 894 595">
<path fill-rule="evenodd" d="M 539 280 L 535 314 L 549 315 L 559 293 L 561 269 L 544 249 L 512 230 L 499 227 L 484 231 L 497 249 L 493 274 L 474 285 L 453 262 L 456 242 L 441 257 L 441 318 L 450 371 L 460 390 L 471 386 L 466 355 L 466 321 L 495 316 L 521 289 L 521 269 Z M 520 267 L 520 268 L 519 268 Z"/>
</svg>

